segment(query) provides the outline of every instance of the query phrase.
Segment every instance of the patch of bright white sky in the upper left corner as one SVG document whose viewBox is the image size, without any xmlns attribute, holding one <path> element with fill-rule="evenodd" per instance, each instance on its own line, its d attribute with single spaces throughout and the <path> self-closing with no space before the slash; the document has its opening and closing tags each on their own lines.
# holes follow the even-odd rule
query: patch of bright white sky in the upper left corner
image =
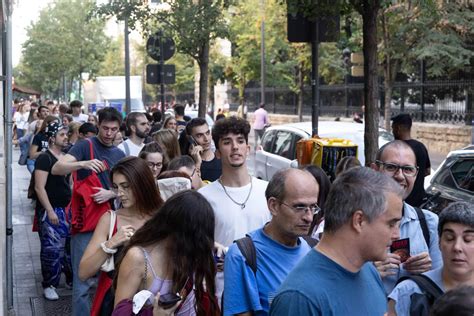
<svg viewBox="0 0 474 316">
<path fill-rule="evenodd" d="M 13 7 L 12 62 L 15 67 L 20 61 L 21 45 L 26 41 L 26 27 L 35 22 L 41 9 L 53 0 L 15 0 Z"/>
</svg>

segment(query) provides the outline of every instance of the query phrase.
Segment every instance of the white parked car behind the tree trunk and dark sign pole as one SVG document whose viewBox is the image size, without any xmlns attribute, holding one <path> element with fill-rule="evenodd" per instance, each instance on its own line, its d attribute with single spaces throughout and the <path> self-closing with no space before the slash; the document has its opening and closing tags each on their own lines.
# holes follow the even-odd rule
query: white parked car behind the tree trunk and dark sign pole
<svg viewBox="0 0 474 316">
<path fill-rule="evenodd" d="M 357 157 L 362 165 L 364 157 L 364 124 L 351 122 L 320 121 L 320 137 L 344 138 L 358 146 Z M 255 154 L 255 176 L 269 180 L 280 169 L 294 165 L 296 143 L 311 137 L 311 122 L 292 123 L 269 127 L 262 137 L 262 142 Z M 379 129 L 379 146 L 393 140 L 392 134 Z"/>
</svg>

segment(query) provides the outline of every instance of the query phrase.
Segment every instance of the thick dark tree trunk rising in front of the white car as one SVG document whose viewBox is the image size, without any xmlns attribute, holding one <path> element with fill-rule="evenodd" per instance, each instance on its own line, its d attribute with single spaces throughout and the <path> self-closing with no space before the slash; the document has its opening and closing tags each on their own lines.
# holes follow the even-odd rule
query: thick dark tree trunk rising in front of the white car
<svg viewBox="0 0 474 316">
<path fill-rule="evenodd" d="M 380 0 L 364 0 L 363 48 L 364 48 L 364 99 L 365 99 L 365 164 L 374 162 L 379 148 L 379 109 L 378 109 L 378 74 L 377 74 L 377 14 Z"/>
</svg>

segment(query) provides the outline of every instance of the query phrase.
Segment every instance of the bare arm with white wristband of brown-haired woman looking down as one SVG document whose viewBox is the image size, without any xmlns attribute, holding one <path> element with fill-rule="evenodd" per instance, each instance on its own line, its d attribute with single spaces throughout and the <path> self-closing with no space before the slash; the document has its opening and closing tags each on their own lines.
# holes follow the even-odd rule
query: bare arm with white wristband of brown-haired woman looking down
<svg viewBox="0 0 474 316">
<path fill-rule="evenodd" d="M 97 223 L 92 239 L 87 245 L 84 255 L 81 258 L 81 263 L 79 264 L 79 278 L 81 280 L 84 281 L 94 276 L 97 271 L 99 271 L 100 266 L 109 258 L 109 256 L 111 256 L 110 254 L 105 253 L 102 249 L 100 245 L 102 242 L 105 241 L 105 246 L 107 248 L 116 249 L 131 237 L 129 233 L 132 231 L 132 227 L 126 225 L 120 227 L 117 233 L 107 240 L 109 228 L 110 213 L 106 212 Z"/>
</svg>

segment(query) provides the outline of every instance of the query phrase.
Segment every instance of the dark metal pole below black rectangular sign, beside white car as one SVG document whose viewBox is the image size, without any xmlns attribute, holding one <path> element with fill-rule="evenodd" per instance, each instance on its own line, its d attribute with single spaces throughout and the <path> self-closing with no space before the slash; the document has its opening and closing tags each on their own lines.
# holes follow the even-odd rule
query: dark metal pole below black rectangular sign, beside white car
<svg viewBox="0 0 474 316">
<path fill-rule="evenodd" d="M 314 23 L 315 34 L 311 41 L 311 122 L 313 125 L 312 136 L 318 135 L 319 116 L 319 69 L 318 69 L 318 46 L 319 46 L 319 19 Z"/>
</svg>

